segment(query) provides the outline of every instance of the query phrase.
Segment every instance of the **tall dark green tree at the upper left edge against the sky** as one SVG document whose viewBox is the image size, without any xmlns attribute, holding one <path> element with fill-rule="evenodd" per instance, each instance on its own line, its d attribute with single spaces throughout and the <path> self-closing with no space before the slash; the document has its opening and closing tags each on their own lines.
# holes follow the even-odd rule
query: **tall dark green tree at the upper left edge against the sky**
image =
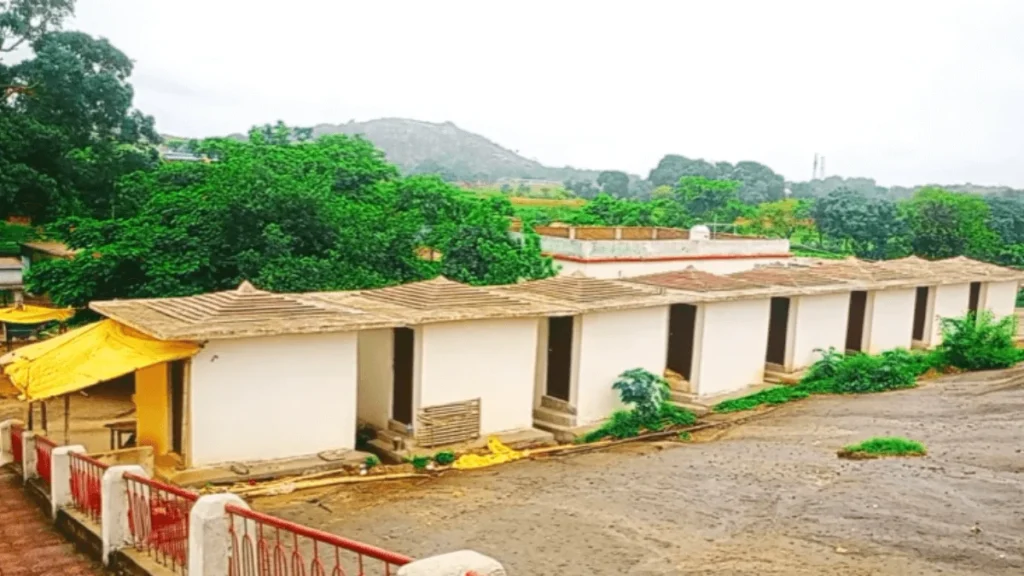
<svg viewBox="0 0 1024 576">
<path fill-rule="evenodd" d="M 60 31 L 73 7 L 0 1 L 0 217 L 110 215 L 120 176 L 157 162 L 153 119 L 131 106 L 131 60 L 106 40 Z M 22 44 L 32 55 L 9 60 Z"/>
</svg>

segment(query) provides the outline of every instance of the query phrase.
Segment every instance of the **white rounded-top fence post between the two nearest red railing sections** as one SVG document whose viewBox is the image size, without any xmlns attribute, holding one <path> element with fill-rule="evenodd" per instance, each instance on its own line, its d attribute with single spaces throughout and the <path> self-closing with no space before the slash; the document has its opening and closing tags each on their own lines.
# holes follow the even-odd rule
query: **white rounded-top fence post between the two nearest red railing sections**
<svg viewBox="0 0 1024 576">
<path fill-rule="evenodd" d="M 188 513 L 188 576 L 227 576 L 231 519 L 224 506 L 249 508 L 234 494 L 201 496 Z"/>
</svg>

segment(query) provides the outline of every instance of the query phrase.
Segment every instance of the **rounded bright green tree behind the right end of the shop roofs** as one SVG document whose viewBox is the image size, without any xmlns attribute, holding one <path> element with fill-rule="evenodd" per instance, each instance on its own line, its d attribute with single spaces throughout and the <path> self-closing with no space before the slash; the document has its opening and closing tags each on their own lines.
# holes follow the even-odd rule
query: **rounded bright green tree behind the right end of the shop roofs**
<svg viewBox="0 0 1024 576">
<path fill-rule="evenodd" d="M 902 207 L 919 256 L 986 259 L 997 251 L 998 235 L 988 227 L 989 207 L 980 196 L 926 188 Z"/>
</svg>

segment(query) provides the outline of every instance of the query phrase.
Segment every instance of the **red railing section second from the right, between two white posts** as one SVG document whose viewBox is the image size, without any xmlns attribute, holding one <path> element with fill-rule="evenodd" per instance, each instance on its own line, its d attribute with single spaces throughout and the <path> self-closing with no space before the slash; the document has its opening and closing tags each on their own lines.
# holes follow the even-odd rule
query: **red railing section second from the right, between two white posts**
<svg viewBox="0 0 1024 576">
<path fill-rule="evenodd" d="M 199 494 L 133 474 L 124 479 L 135 549 L 172 571 L 187 572 L 188 512 Z"/>
</svg>

